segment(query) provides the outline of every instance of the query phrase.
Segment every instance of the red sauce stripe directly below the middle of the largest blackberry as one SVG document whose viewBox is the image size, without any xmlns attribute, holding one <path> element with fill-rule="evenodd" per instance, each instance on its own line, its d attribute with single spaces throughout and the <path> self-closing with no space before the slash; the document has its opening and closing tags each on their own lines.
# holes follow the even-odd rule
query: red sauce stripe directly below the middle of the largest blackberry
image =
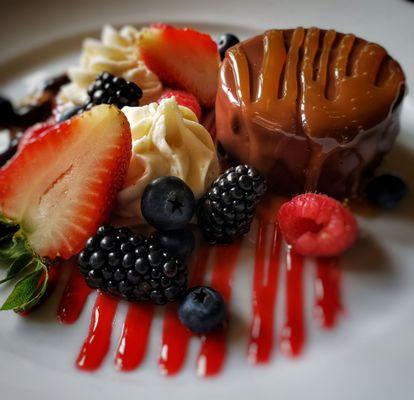
<svg viewBox="0 0 414 400">
<path fill-rule="evenodd" d="M 117 369 L 132 371 L 141 364 L 147 352 L 153 316 L 152 304 L 129 304 L 115 354 Z"/>
</svg>

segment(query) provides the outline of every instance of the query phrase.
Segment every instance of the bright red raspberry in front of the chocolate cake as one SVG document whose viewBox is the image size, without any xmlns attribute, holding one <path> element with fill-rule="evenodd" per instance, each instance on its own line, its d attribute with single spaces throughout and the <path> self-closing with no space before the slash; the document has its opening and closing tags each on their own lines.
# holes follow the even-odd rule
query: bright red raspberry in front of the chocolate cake
<svg viewBox="0 0 414 400">
<path fill-rule="evenodd" d="M 288 244 L 305 256 L 337 256 L 352 246 L 358 232 L 355 217 L 341 203 L 314 193 L 283 204 L 278 222 Z"/>
</svg>

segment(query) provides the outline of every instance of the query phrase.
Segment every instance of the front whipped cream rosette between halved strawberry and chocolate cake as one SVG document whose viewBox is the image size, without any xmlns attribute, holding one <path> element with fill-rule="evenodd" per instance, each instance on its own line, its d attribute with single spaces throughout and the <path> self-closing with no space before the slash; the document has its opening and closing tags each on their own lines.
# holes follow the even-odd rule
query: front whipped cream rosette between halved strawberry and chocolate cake
<svg viewBox="0 0 414 400">
<path fill-rule="evenodd" d="M 219 175 L 213 140 L 187 107 L 175 98 L 143 107 L 124 107 L 132 132 L 132 159 L 116 214 L 124 224 L 140 222 L 140 201 L 155 178 L 181 178 L 199 198 Z"/>
</svg>

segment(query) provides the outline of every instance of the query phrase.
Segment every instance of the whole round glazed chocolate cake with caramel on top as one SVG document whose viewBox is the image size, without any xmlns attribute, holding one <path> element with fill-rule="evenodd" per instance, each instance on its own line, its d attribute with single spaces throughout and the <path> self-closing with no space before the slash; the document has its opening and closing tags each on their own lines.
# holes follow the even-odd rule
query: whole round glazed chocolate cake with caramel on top
<svg viewBox="0 0 414 400">
<path fill-rule="evenodd" d="M 217 139 L 280 194 L 355 194 L 399 130 L 405 79 L 381 46 L 333 30 L 270 30 L 227 51 Z"/>
</svg>

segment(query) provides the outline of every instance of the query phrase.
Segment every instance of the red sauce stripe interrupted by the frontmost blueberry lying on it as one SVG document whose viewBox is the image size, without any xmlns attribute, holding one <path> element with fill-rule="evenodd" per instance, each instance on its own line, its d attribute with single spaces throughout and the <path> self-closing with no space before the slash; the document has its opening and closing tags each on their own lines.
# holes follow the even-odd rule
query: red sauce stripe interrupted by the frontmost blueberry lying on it
<svg viewBox="0 0 414 400">
<path fill-rule="evenodd" d="M 231 297 L 231 283 L 240 247 L 241 241 L 215 248 L 211 286 L 223 295 L 227 304 L 229 304 Z M 197 374 L 199 376 L 218 374 L 223 367 L 226 350 L 226 328 L 203 335 L 201 349 L 197 357 Z"/>
</svg>

